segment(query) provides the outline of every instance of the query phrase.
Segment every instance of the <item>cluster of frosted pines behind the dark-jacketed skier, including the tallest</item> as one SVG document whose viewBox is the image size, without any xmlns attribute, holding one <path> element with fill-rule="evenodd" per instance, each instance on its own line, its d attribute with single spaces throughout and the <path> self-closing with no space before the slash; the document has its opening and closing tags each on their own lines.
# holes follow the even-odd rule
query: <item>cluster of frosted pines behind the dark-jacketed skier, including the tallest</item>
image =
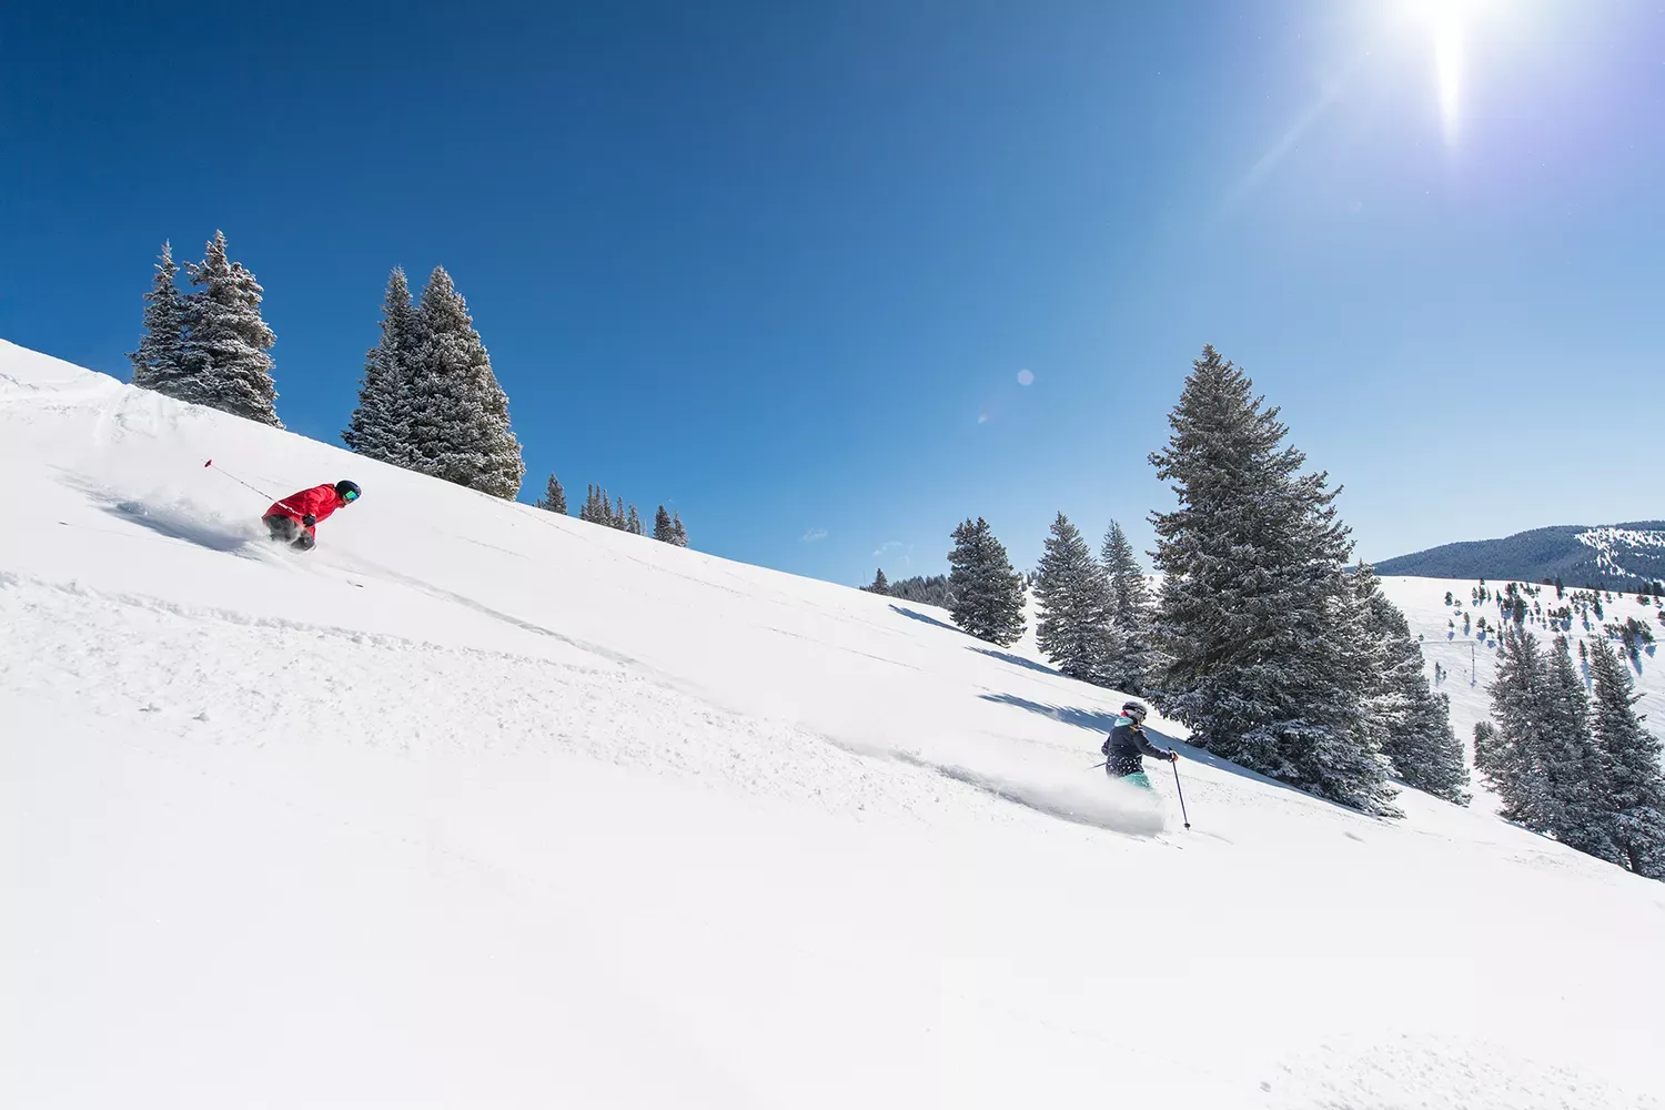
<svg viewBox="0 0 1665 1110">
<path fill-rule="evenodd" d="M 1399 815 L 1397 777 L 1467 804 L 1450 701 L 1352 539 L 1324 473 L 1277 408 L 1212 346 L 1192 363 L 1149 456 L 1179 504 L 1152 513 L 1152 592 L 1114 521 L 1094 556 L 1062 513 L 1032 577 L 1036 639 L 1064 674 L 1152 701 L 1194 744 L 1369 814 Z M 952 533 L 949 612 L 981 639 L 1024 634 L 1026 576 L 987 521 Z M 871 589 L 871 587 L 869 587 Z"/>
</svg>

